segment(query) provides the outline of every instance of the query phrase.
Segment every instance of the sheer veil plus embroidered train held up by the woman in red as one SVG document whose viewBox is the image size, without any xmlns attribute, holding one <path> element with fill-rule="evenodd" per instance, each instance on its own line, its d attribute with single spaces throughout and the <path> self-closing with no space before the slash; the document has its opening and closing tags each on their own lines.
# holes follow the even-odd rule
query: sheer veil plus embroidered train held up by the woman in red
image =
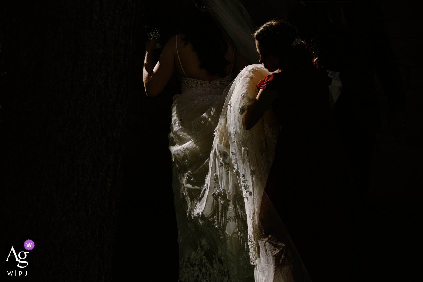
<svg viewBox="0 0 423 282">
<path fill-rule="evenodd" d="M 258 63 L 254 23 L 239 0 L 203 0 L 207 10 L 250 62 Z M 214 129 L 209 172 L 192 218 L 212 222 L 233 261 L 232 280 L 249 256 L 256 282 L 308 282 L 310 278 L 275 208 L 264 192 L 275 153 L 279 123 L 271 108 L 250 130 L 242 117 L 255 100 L 256 84 L 269 72 L 259 64 L 245 67 L 225 89 Z"/>
</svg>

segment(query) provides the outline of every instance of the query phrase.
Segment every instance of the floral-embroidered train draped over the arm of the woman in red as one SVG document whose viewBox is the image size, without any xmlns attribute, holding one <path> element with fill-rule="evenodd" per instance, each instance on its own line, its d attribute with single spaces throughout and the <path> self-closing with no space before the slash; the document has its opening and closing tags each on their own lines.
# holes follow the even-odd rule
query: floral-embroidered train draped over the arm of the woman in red
<svg viewBox="0 0 423 282">
<path fill-rule="evenodd" d="M 232 212 L 241 215 L 237 223 L 247 221 L 247 230 L 239 224 L 226 227 L 225 233 L 231 246 L 248 247 L 256 282 L 306 282 L 307 270 L 264 193 L 280 132 L 277 118 L 270 107 L 252 129 L 242 126 L 243 115 L 258 94 L 256 85 L 268 74 L 262 65 L 247 66 L 225 90 L 210 153 L 211 178 L 196 210 L 205 219 L 220 216 L 224 221 Z M 226 206 L 219 210 L 219 203 Z"/>
</svg>

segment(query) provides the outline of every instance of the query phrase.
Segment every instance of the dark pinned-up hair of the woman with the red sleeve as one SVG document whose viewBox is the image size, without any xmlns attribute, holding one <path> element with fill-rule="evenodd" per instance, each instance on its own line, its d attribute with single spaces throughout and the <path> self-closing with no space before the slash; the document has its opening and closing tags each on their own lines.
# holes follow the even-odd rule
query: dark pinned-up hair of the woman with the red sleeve
<svg viewBox="0 0 423 282">
<path fill-rule="evenodd" d="M 254 39 L 274 55 L 283 57 L 291 68 L 317 67 L 317 61 L 308 45 L 299 40 L 297 29 L 287 22 L 272 19 L 258 27 Z"/>
</svg>

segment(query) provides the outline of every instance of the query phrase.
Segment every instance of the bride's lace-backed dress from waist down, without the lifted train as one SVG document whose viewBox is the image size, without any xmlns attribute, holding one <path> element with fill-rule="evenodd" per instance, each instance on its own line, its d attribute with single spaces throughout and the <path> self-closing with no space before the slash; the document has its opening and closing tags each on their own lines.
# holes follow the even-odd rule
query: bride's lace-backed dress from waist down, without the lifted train
<svg viewBox="0 0 423 282">
<path fill-rule="evenodd" d="M 250 277 L 253 281 L 254 267 L 249 263 L 248 245 L 242 237 L 247 234 L 242 195 L 214 201 L 207 216 L 199 210 L 209 190 L 208 183 L 214 181 L 213 175 L 208 175 L 210 152 L 225 103 L 223 92 L 233 75 L 211 82 L 187 77 L 179 80 L 181 93 L 173 98 L 169 133 L 179 233 L 179 279 L 235 282 L 248 281 Z M 234 203 L 238 203 L 235 208 Z"/>
</svg>

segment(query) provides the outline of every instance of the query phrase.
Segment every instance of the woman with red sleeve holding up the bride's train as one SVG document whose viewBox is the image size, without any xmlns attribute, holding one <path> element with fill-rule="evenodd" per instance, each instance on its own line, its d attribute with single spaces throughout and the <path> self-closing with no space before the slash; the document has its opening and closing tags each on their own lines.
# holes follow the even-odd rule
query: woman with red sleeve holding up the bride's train
<svg viewBox="0 0 423 282">
<path fill-rule="evenodd" d="M 255 33 L 269 72 L 244 115 L 251 129 L 272 106 L 281 126 L 265 192 L 282 219 L 312 281 L 348 281 L 352 199 L 346 167 L 331 133 L 333 107 L 325 73 L 294 26 L 273 20 Z M 260 217 L 266 218 L 266 204 Z M 266 232 L 266 226 L 264 226 Z"/>
</svg>

